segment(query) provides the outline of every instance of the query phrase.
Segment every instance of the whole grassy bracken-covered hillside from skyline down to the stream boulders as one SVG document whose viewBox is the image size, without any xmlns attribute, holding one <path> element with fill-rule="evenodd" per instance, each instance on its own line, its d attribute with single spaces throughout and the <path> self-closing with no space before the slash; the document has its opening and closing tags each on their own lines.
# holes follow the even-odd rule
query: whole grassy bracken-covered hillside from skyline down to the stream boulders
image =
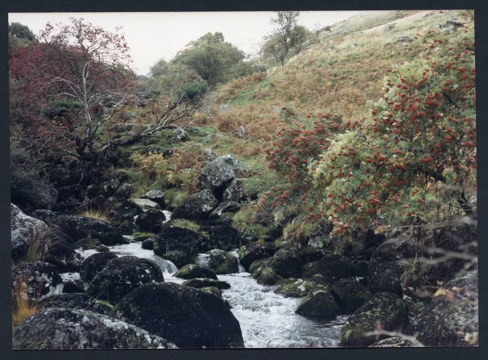
<svg viewBox="0 0 488 360">
<path fill-rule="evenodd" d="M 284 67 L 276 66 L 266 73 L 255 73 L 221 85 L 207 101 L 206 112 L 197 113 L 192 120 L 190 141 L 179 144 L 166 140 L 152 140 L 150 144 L 135 146 L 128 153 L 147 151 L 147 146 L 164 153 L 173 149 L 164 160 L 153 158 L 151 166 L 168 170 L 168 175 L 153 179 L 144 176 L 135 162 L 130 175 L 140 191 L 167 188 L 168 203 L 178 206 L 190 194 L 197 192 L 197 178 L 206 164 L 204 148 L 219 155 L 235 155 L 247 169 L 245 179 L 248 192 L 256 197 L 279 184 L 274 170 L 267 168 L 264 150 L 270 146 L 274 134 L 289 120 L 289 116 L 337 113 L 343 121 L 361 120 L 368 115 L 372 102 L 384 94 L 387 68 L 418 59 L 424 48 L 417 34 L 439 29 L 448 19 L 468 19 L 464 11 L 375 11 L 361 14 L 331 26 L 331 32 L 321 34 L 322 41 L 311 45 L 303 53 L 292 57 Z M 386 27 L 391 30 L 385 31 Z M 439 30 L 443 31 L 443 30 Z M 404 39 L 405 41 L 398 41 Z M 220 110 L 221 105 L 231 110 Z M 285 107 L 286 111 L 282 108 Z M 134 122 L 144 122 L 146 114 L 135 114 Z M 244 126 L 245 139 L 235 135 Z M 160 162 L 160 163 L 159 163 Z M 146 164 L 147 165 L 147 164 Z M 234 219 L 236 228 L 255 231 L 265 236 L 266 229 L 252 224 L 257 201 L 250 201 Z M 279 214 L 277 214 L 279 216 Z M 306 224 L 300 224 L 306 232 Z"/>
</svg>

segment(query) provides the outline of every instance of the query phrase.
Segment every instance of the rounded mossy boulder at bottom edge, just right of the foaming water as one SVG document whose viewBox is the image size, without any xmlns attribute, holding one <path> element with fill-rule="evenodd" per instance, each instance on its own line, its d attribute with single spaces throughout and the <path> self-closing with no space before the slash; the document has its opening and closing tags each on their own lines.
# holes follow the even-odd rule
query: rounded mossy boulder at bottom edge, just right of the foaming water
<svg viewBox="0 0 488 360">
<path fill-rule="evenodd" d="M 407 306 L 398 295 L 390 292 L 374 294 L 347 319 L 339 336 L 341 346 L 365 347 L 378 341 L 367 335 L 378 327 L 386 331 L 400 331 L 408 321 Z M 380 336 L 380 340 L 386 336 Z"/>
</svg>

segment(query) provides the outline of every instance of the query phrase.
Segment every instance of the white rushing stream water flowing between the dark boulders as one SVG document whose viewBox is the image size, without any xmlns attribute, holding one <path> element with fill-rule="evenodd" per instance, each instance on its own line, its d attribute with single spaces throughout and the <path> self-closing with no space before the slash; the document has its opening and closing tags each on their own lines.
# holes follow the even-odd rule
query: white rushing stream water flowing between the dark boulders
<svg viewBox="0 0 488 360">
<path fill-rule="evenodd" d="M 169 211 L 168 211 L 169 213 Z M 167 218 L 171 213 L 166 214 Z M 152 260 L 163 270 L 164 281 L 181 284 L 183 279 L 174 277 L 178 268 L 169 260 L 154 254 L 152 250 L 141 247 L 141 243 L 109 246 L 110 251 L 119 256 L 133 255 Z M 80 251 L 83 258 L 96 250 Z M 231 253 L 238 257 L 237 250 Z M 208 255 L 200 254 L 200 265 L 208 263 Z M 77 279 L 78 273 L 63 274 L 63 280 Z M 309 347 L 337 346 L 339 331 L 347 316 L 331 319 L 312 320 L 295 314 L 300 299 L 286 298 L 273 292 L 274 286 L 263 286 L 244 272 L 242 265 L 235 274 L 218 275 L 219 280 L 230 284 L 222 296 L 231 305 L 231 311 L 239 321 L 246 347 Z"/>
</svg>

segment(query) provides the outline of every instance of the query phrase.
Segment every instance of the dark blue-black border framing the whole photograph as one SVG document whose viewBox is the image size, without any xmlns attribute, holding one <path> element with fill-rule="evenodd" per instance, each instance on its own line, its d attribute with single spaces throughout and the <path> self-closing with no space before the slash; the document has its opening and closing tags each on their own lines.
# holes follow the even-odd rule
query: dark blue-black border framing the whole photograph
<svg viewBox="0 0 488 360">
<path fill-rule="evenodd" d="M 485 0 L 486 2 L 486 0 Z M 1 27 L 1 118 L 0 122 L 0 339 L 1 359 L 483 359 L 488 353 L 487 306 L 488 294 L 487 266 L 479 263 L 479 347 L 437 347 L 437 348 L 273 348 L 273 349 L 178 349 L 165 350 L 11 350 L 11 255 L 10 255 L 10 172 L 9 172 L 9 110 L 8 110 L 8 13 L 9 12 L 130 12 L 130 11 L 275 11 L 275 10 L 422 10 L 422 9 L 474 9 L 475 37 L 478 44 L 476 62 L 477 105 L 477 181 L 487 184 L 488 179 L 488 142 L 483 135 L 488 135 L 488 122 L 483 114 L 488 114 L 487 98 L 487 5 L 483 1 L 386 1 L 386 0 L 350 0 L 350 1 L 269 1 L 247 0 L 230 3 L 228 0 L 200 1 L 131 1 L 131 0 L 8 0 L 0 5 Z M 480 116 L 481 115 L 481 116 Z M 479 257 L 488 260 L 487 253 L 487 191 L 478 186 L 478 238 Z"/>
</svg>

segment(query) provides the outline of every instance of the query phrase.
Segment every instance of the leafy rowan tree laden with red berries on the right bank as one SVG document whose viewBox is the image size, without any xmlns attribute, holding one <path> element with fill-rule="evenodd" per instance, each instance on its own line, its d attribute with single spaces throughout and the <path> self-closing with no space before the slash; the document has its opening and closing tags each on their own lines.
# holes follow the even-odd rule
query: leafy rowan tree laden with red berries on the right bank
<svg viewBox="0 0 488 360">
<path fill-rule="evenodd" d="M 424 56 L 386 69 L 385 95 L 367 118 L 282 131 L 268 160 L 290 184 L 262 201 L 276 208 L 293 195 L 305 221 L 330 221 L 338 235 L 469 214 L 466 199 L 476 192 L 473 37 L 472 28 L 417 35 Z"/>
</svg>

